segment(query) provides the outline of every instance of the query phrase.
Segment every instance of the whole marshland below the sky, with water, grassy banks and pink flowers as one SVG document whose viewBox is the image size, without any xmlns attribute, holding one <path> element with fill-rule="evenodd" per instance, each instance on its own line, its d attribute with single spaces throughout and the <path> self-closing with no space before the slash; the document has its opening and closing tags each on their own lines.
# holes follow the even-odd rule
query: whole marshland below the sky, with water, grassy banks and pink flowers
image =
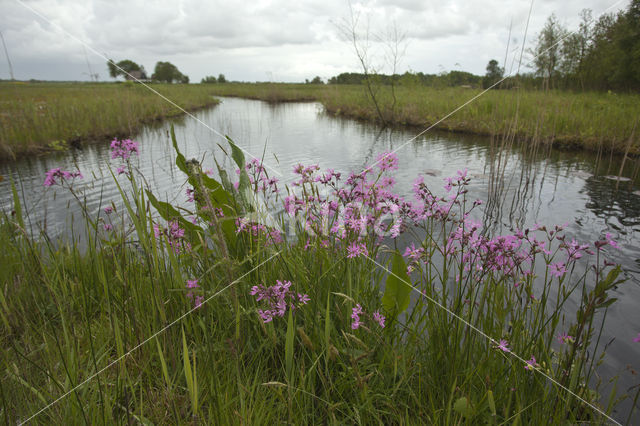
<svg viewBox="0 0 640 426">
<path fill-rule="evenodd" d="M 0 83 L 3 421 L 637 423 L 637 91 L 167 64 Z"/>
</svg>

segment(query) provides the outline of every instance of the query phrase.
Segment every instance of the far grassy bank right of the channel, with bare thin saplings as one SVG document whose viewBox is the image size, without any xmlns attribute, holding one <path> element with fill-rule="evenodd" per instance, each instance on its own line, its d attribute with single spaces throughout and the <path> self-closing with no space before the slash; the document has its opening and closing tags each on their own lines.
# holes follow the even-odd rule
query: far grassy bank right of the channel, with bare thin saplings
<svg viewBox="0 0 640 426">
<path fill-rule="evenodd" d="M 364 86 L 224 84 L 212 87 L 213 92 L 221 96 L 268 101 L 315 99 L 322 102 L 329 113 L 381 121 Z M 438 122 L 481 92 L 465 88 L 398 87 L 394 104 L 388 86 L 377 90 L 385 121 L 421 129 Z M 639 116 L 638 95 L 491 90 L 436 128 L 482 135 L 515 133 L 523 141 L 617 153 L 629 148 L 630 153 L 640 154 L 640 131 L 633 131 Z"/>
</svg>

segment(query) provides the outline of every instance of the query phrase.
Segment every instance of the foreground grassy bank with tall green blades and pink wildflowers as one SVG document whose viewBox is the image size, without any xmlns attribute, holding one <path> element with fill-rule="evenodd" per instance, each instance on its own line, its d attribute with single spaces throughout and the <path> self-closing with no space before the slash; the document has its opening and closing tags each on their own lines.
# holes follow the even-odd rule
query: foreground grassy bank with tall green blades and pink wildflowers
<svg viewBox="0 0 640 426">
<path fill-rule="evenodd" d="M 613 412 L 619 395 L 597 393 L 594 365 L 598 315 L 620 284 L 609 236 L 483 237 L 464 219 L 478 205 L 464 171 L 446 198 L 417 181 L 409 205 L 392 155 L 348 179 L 300 166 L 283 188 L 232 144 L 236 185 L 178 153 L 193 201 L 173 206 L 141 187 L 137 150 L 114 147 L 121 199 L 85 215 L 85 249 L 32 238 L 17 193 L 0 220 L 7 424 L 577 424 Z M 82 207 L 78 179 L 43 176 Z M 401 234 L 404 255 L 379 238 Z M 593 268 L 574 274 L 577 262 Z"/>
</svg>

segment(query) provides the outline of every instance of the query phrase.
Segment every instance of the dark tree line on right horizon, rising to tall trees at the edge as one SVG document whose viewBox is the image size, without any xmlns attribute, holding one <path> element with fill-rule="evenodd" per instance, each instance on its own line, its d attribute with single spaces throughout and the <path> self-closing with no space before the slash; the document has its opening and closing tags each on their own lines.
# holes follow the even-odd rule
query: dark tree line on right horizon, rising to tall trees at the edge
<svg viewBox="0 0 640 426">
<path fill-rule="evenodd" d="M 457 70 L 439 74 L 342 73 L 331 77 L 328 83 L 638 91 L 640 0 L 632 0 L 627 9 L 604 14 L 597 20 L 593 19 L 591 10 L 584 9 L 574 31 L 569 31 L 555 14 L 551 14 L 527 53 L 528 68 L 532 71 L 515 76 L 511 74 L 517 58 L 512 61 L 507 77 L 507 67 L 492 59 L 483 76 Z"/>
</svg>

